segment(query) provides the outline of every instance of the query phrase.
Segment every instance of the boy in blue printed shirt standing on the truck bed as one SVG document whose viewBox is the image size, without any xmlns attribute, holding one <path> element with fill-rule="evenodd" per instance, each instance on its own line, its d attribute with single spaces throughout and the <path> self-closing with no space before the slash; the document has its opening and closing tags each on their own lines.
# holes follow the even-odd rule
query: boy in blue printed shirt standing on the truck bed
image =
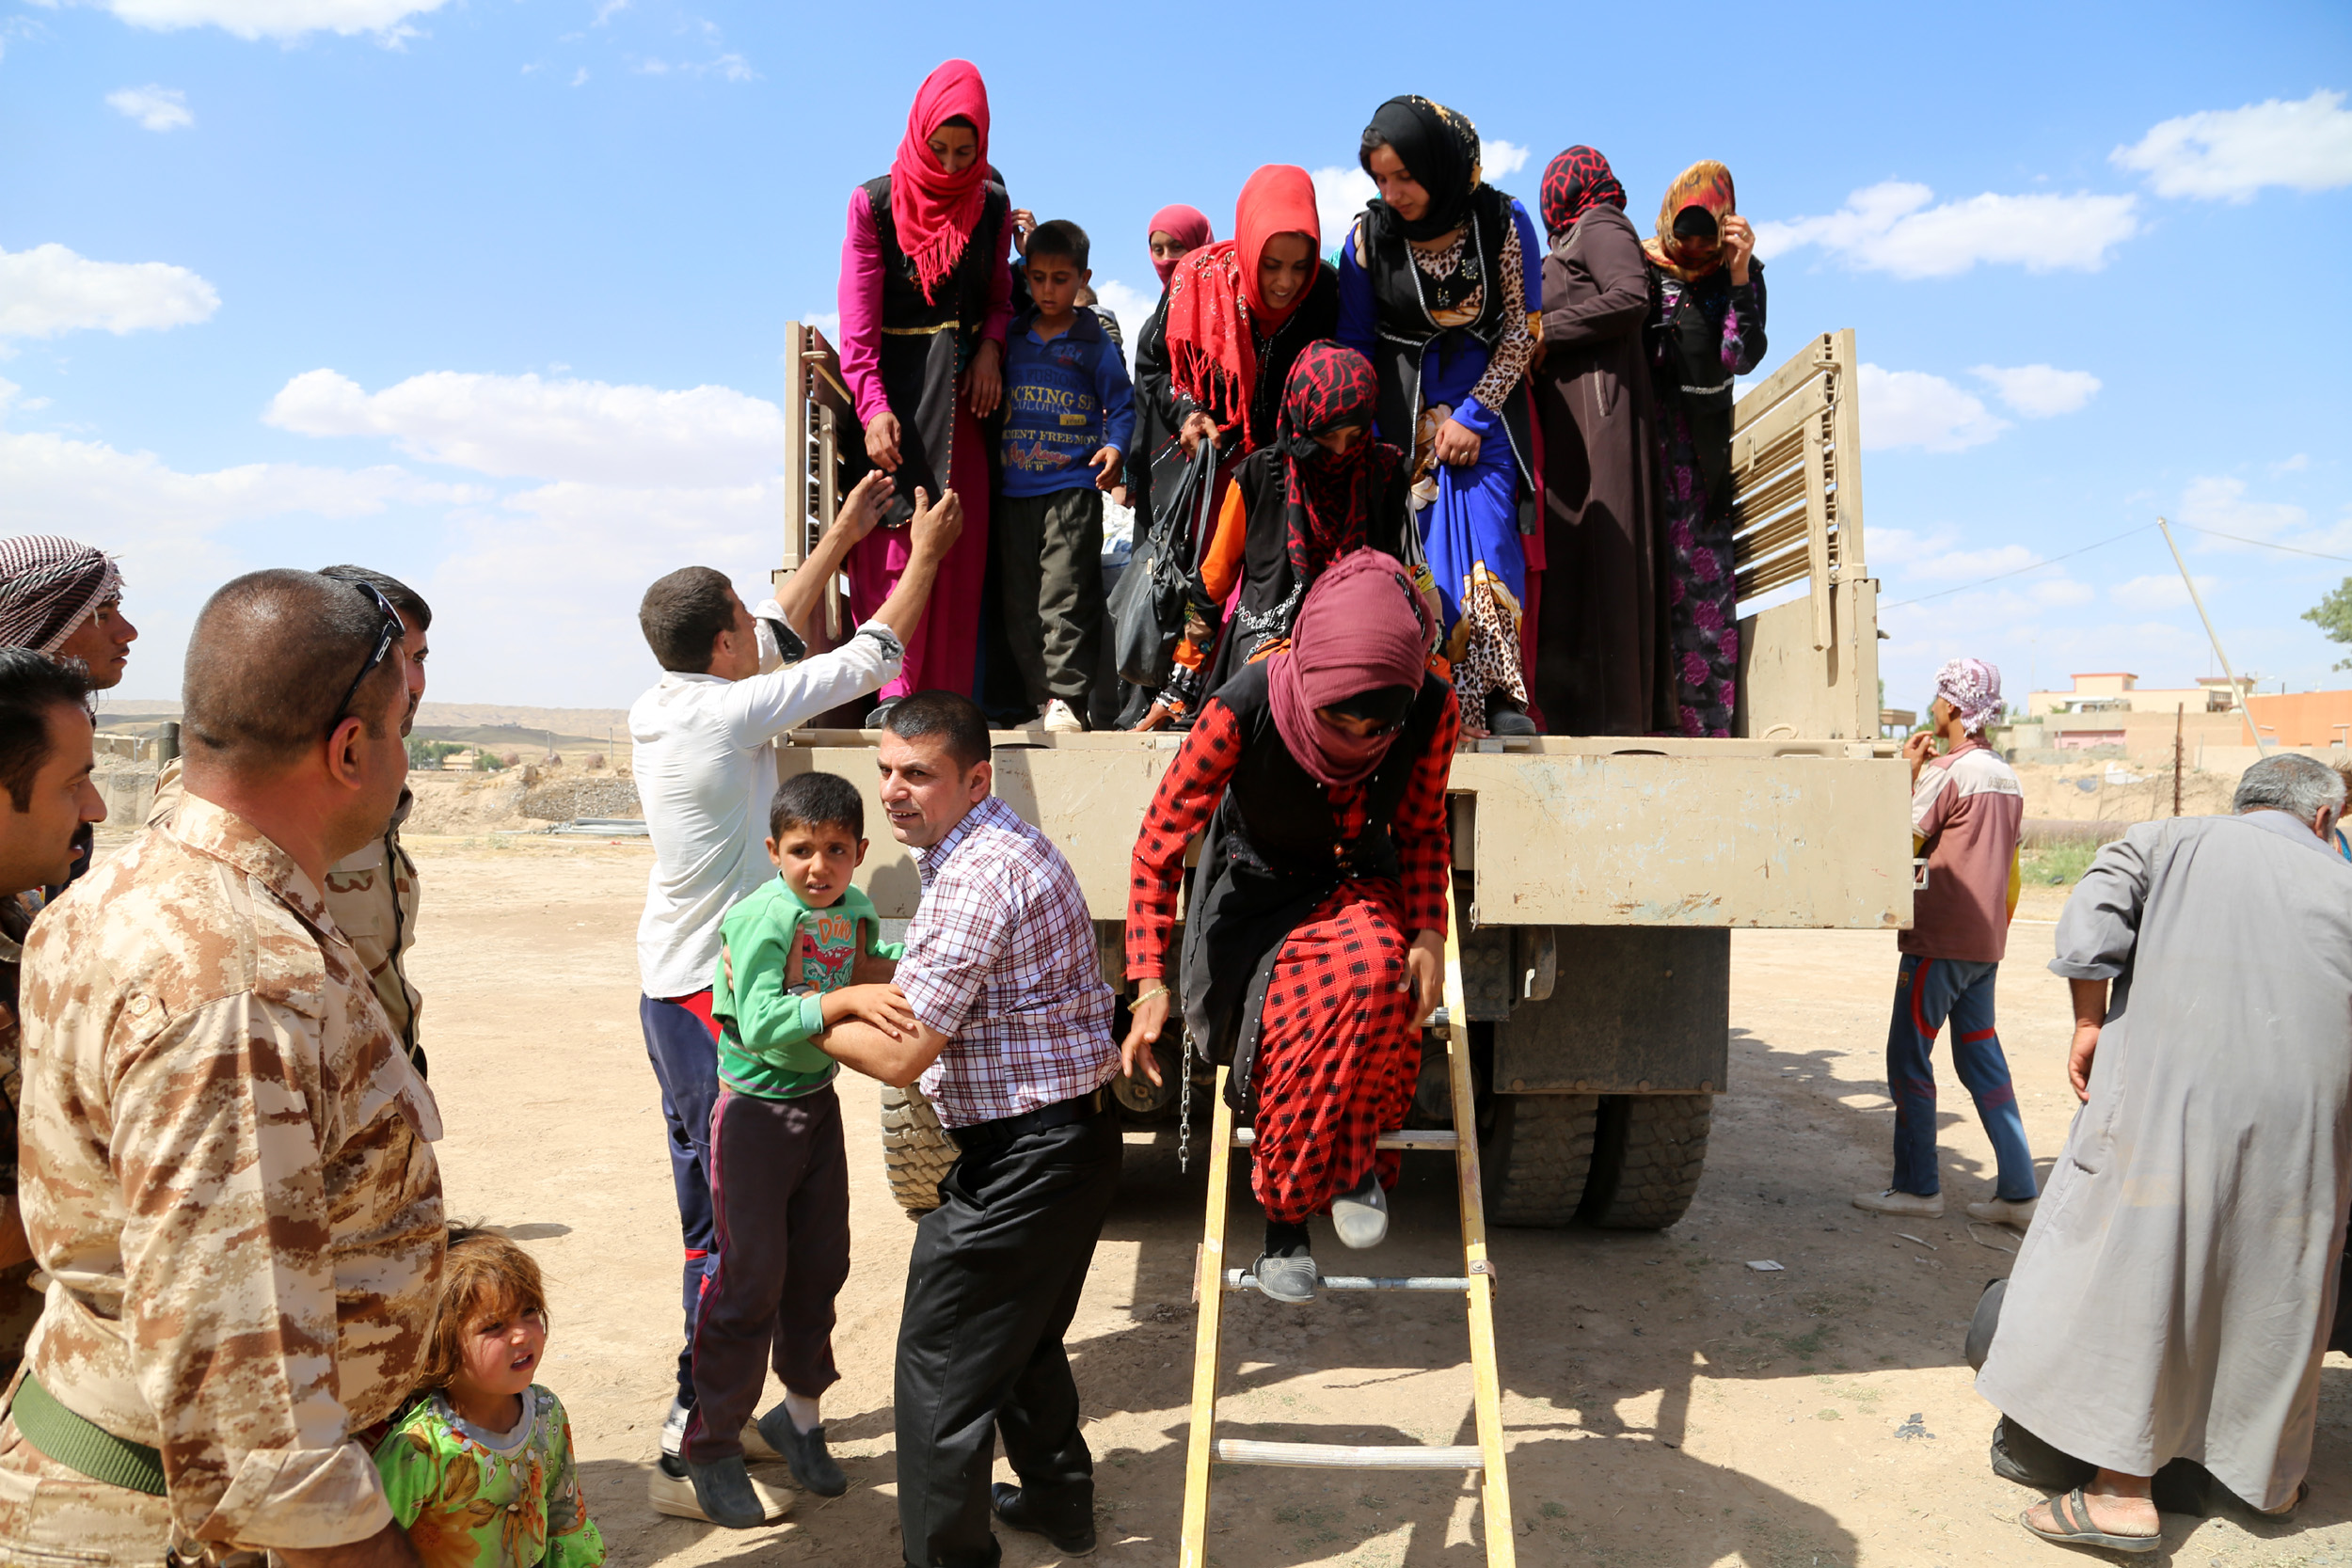
<svg viewBox="0 0 2352 1568">
<path fill-rule="evenodd" d="M 1103 491 L 1120 484 L 1136 393 L 1120 346 L 1077 303 L 1094 277 L 1087 230 L 1040 223 L 1021 273 L 1033 306 L 1007 334 L 995 515 L 1004 637 L 1047 731 L 1075 733 L 1103 646 Z"/>
</svg>

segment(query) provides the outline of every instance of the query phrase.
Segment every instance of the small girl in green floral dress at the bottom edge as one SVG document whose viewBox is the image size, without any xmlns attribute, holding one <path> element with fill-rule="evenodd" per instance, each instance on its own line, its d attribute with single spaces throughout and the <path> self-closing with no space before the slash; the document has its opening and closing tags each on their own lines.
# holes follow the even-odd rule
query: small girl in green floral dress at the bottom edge
<svg viewBox="0 0 2352 1568">
<path fill-rule="evenodd" d="M 376 1443 L 393 1519 L 423 1568 L 595 1568 L 572 1425 L 532 1382 L 548 1347 L 548 1298 L 532 1255 L 456 1229 L 419 1392 Z"/>
</svg>

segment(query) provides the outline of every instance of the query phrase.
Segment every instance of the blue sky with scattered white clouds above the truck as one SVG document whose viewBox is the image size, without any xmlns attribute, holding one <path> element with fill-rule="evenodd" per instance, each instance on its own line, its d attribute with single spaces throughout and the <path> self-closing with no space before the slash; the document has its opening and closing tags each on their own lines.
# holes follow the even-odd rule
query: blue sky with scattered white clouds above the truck
<svg viewBox="0 0 2352 1568">
<path fill-rule="evenodd" d="M 2152 531 L 1966 588 L 2159 512 L 2352 557 L 2352 12 L 1588 12 L 0 0 L 0 531 L 122 555 L 122 696 L 176 693 L 235 571 L 358 559 L 435 602 L 435 698 L 628 703 L 652 576 L 776 562 L 783 324 L 962 54 L 1129 306 L 1155 207 L 1223 235 L 1298 162 L 1338 212 L 1395 92 L 1529 200 L 1599 146 L 1644 226 L 1726 160 L 1773 360 L 1856 327 L 1875 367 L 1870 567 L 1940 595 L 1884 618 L 1896 705 L 1962 651 L 2013 693 L 2209 672 Z M 2352 562 L 2183 543 L 2241 672 L 2352 684 L 2298 618 Z"/>
</svg>

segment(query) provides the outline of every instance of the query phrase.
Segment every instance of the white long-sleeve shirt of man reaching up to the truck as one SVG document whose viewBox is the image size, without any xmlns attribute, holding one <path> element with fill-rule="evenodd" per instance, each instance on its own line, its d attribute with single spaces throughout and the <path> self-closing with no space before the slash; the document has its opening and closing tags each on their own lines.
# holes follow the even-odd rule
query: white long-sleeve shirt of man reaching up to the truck
<svg viewBox="0 0 2352 1568">
<path fill-rule="evenodd" d="M 708 990 L 720 959 L 720 919 L 776 875 L 762 849 L 767 802 L 776 795 L 767 743 L 828 708 L 880 691 L 898 675 L 903 656 L 889 628 L 868 621 L 840 649 L 750 679 L 670 670 L 628 710 L 637 799 L 654 837 L 637 922 L 637 976 L 647 997 Z"/>
</svg>

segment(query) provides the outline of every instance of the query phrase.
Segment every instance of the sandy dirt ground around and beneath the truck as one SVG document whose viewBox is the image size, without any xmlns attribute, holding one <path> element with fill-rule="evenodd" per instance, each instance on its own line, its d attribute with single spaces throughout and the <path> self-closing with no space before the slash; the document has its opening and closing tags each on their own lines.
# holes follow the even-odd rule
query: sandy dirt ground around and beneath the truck
<svg viewBox="0 0 2352 1568">
<path fill-rule="evenodd" d="M 659 1519 L 647 1467 L 677 1349 L 677 1222 L 637 1034 L 633 933 L 649 851 L 550 839 L 412 839 L 416 980 L 447 1138 L 449 1208 L 508 1225 L 546 1265 L 546 1382 L 572 1410 L 612 1563 L 896 1563 L 891 1347 L 913 1225 L 873 1143 L 851 1143 L 856 1262 L 826 1413 L 851 1476 L 750 1533 Z M 2042 1166 L 2072 1112 L 2065 992 L 2042 964 L 2058 891 L 2034 889 L 2004 966 L 2004 1041 Z M 1962 1328 L 2016 1237 L 1959 1213 L 1992 1152 L 1943 1067 L 1950 1218 L 1849 1206 L 1886 1178 L 1882 1041 L 1891 933 L 1738 933 L 1731 1081 L 1705 1182 L 1663 1234 L 1496 1232 L 1498 1338 L 1522 1563 L 1828 1568 L 2060 1563 L 2013 1523 L 2034 1497 L 1985 1467 L 1992 1410 Z M 844 1077 L 849 1126 L 875 1093 Z M 1202 1164 L 1131 1135 L 1120 1201 L 1070 1331 L 1098 1465 L 1101 1559 L 1174 1563 L 1190 1392 Z M 1254 1211 L 1235 1206 L 1247 1237 Z M 1907 1234 L 1905 1234 L 1907 1232 Z M 1451 1171 L 1416 1154 L 1378 1272 L 1456 1272 Z M 1240 1244 L 1237 1244 L 1240 1246 Z M 1338 1253 L 1336 1244 L 1329 1244 Z M 1759 1274 L 1748 1260 L 1776 1260 Z M 1228 1298 L 1232 1434 L 1475 1441 L 1454 1298 Z M 2152 1561 L 2352 1563 L 2352 1363 L 2328 1359 L 2312 1497 L 2293 1523 L 2166 1519 Z M 1000 1476 L 1011 1479 L 1000 1460 Z M 783 1483 L 783 1472 L 774 1476 Z M 1458 1476 L 1223 1469 L 1223 1568 L 1484 1563 Z M 1014 1568 L 1061 1561 L 1004 1535 Z"/>
</svg>

